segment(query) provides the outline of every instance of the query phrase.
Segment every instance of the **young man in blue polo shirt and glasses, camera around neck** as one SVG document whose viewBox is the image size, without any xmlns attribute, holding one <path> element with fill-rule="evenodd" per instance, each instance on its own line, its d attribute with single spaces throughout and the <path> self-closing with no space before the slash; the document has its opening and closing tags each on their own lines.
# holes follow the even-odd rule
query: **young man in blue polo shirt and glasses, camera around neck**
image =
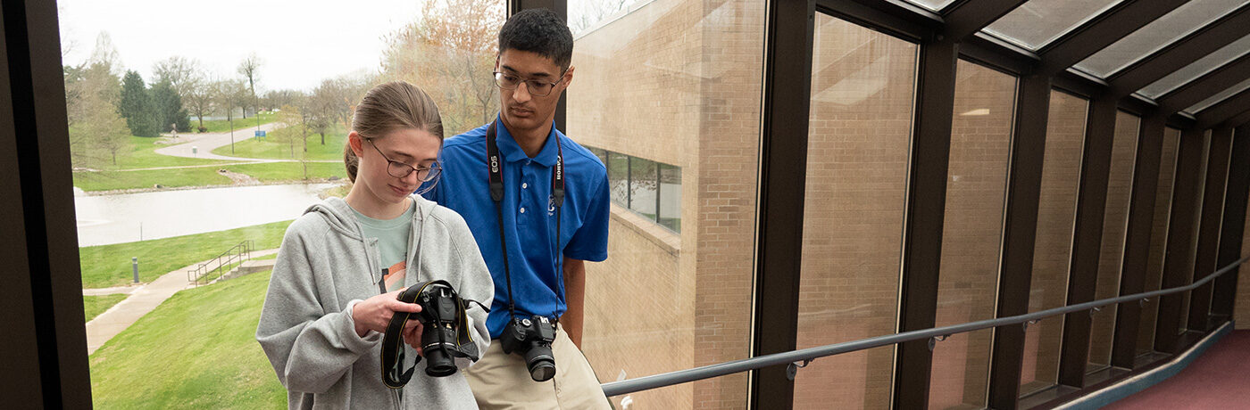
<svg viewBox="0 0 1250 410">
<path fill-rule="evenodd" d="M 464 216 L 495 280 L 494 340 L 469 385 L 482 409 L 609 409 L 579 349 L 584 262 L 608 258 L 608 172 L 552 122 L 572 34 L 555 12 L 526 10 L 504 24 L 499 51 L 499 116 L 444 143 L 426 193 Z"/>
</svg>

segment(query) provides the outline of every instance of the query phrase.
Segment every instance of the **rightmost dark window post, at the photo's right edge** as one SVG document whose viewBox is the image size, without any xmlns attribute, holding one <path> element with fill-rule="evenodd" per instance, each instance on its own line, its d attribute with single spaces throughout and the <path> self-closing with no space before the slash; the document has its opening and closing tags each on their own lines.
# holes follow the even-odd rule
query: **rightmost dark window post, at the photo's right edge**
<svg viewBox="0 0 1250 410">
<path fill-rule="evenodd" d="M 1245 229 L 1246 199 L 1250 193 L 1250 125 L 1238 127 L 1232 133 L 1228 191 L 1224 196 L 1224 221 L 1220 232 L 1219 263 L 1229 264 L 1240 258 Z M 1229 262 L 1224 262 L 1229 260 Z M 1211 294 L 1211 314 L 1231 318 L 1236 299 L 1238 269 L 1215 279 Z"/>
</svg>

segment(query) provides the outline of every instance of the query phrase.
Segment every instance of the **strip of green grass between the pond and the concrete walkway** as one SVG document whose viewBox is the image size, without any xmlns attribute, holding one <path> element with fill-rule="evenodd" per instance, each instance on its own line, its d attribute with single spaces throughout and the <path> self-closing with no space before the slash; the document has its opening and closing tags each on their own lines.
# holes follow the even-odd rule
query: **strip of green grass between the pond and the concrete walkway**
<svg viewBox="0 0 1250 410">
<path fill-rule="evenodd" d="M 132 282 L 131 257 L 139 258 L 139 280 L 151 282 L 174 269 L 216 257 L 246 239 L 255 241 L 256 249 L 274 249 L 282 243 L 282 234 L 289 224 L 291 221 L 174 238 L 82 247 L 79 248 L 82 288 L 108 288 Z"/>
</svg>

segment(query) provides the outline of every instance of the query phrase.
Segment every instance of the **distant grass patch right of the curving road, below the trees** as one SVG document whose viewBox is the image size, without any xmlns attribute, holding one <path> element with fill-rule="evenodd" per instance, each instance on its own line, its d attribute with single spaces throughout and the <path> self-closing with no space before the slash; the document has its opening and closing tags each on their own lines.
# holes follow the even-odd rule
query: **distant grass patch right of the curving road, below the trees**
<svg viewBox="0 0 1250 410">
<path fill-rule="evenodd" d="M 300 152 L 304 148 L 302 145 L 296 141 L 295 157 L 292 157 L 291 146 L 282 141 L 286 136 L 296 136 L 299 133 L 299 126 L 284 127 L 270 132 L 264 140 L 248 138 L 246 141 L 236 142 L 234 153 L 230 152 L 230 146 L 212 150 L 212 153 L 245 158 L 296 160 L 302 155 Z M 346 141 L 348 131 L 342 126 L 336 126 L 325 133 L 325 145 L 321 143 L 321 135 L 310 131 L 308 136 L 308 160 L 342 160 L 342 147 Z"/>
</svg>

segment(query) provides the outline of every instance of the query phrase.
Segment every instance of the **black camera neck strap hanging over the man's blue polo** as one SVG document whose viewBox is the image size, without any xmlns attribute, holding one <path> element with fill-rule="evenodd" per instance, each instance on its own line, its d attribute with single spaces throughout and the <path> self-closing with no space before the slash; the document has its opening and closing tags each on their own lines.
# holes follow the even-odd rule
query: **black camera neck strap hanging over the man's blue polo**
<svg viewBox="0 0 1250 410">
<path fill-rule="evenodd" d="M 495 142 L 495 123 L 491 121 L 486 128 L 486 167 L 490 171 L 490 198 L 495 201 L 495 213 L 499 217 L 499 247 L 504 252 L 504 278 L 508 280 L 508 314 L 516 318 L 516 302 L 512 299 L 512 274 L 508 264 L 508 241 L 504 239 L 504 160 L 499 155 L 499 145 Z M 556 133 L 551 133 L 555 141 L 556 157 L 555 167 L 551 169 L 551 198 L 555 203 L 555 270 L 559 282 L 564 282 L 564 273 L 560 272 L 560 219 L 564 211 L 564 148 Z"/>
</svg>

